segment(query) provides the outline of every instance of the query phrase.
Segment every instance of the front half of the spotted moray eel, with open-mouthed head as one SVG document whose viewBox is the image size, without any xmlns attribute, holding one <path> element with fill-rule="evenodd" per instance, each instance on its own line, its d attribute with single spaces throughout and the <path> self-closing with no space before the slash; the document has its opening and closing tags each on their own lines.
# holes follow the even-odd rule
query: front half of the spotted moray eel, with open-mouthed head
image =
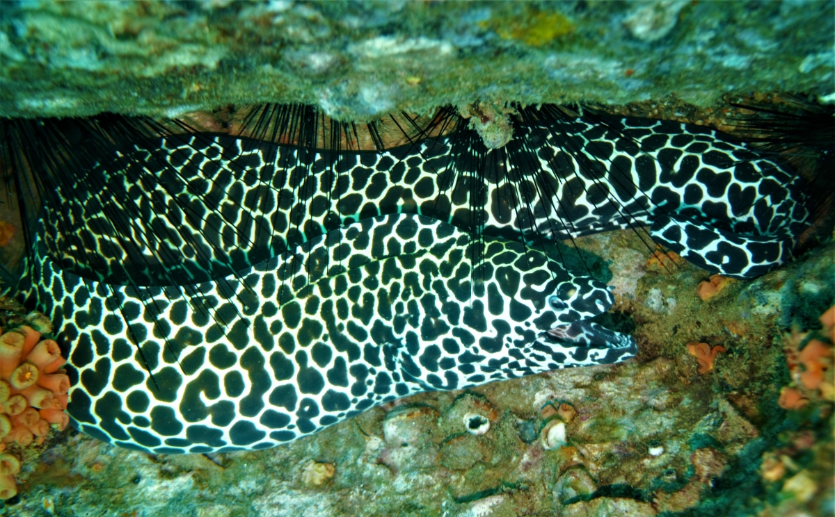
<svg viewBox="0 0 835 517">
<path fill-rule="evenodd" d="M 179 288 L 200 293 L 205 313 L 175 288 L 80 279 L 41 248 L 39 296 L 55 298 L 44 309 L 74 343 L 68 410 L 84 432 L 134 449 L 264 449 L 407 394 L 637 351 L 588 321 L 614 302 L 605 284 L 425 216 L 364 219 Z"/>
</svg>

